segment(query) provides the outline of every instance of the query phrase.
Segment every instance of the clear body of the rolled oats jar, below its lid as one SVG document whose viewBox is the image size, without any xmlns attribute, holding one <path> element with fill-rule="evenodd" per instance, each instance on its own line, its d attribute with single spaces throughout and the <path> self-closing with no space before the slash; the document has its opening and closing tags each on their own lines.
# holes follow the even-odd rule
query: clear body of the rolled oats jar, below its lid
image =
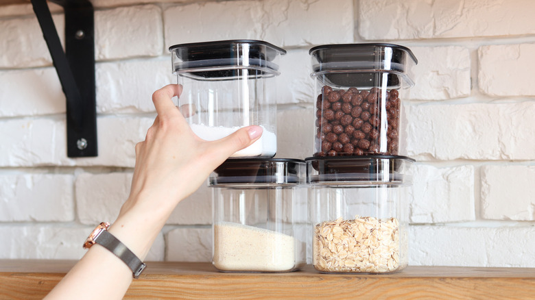
<svg viewBox="0 0 535 300">
<path fill-rule="evenodd" d="M 407 266 L 406 186 L 313 186 L 312 260 L 326 273 Z"/>
</svg>

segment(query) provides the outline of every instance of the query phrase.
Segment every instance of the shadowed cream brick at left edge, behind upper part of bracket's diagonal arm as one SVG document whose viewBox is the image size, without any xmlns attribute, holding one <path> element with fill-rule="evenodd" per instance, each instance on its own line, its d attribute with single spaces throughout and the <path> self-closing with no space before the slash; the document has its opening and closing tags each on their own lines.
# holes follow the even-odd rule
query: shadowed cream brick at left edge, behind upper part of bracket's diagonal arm
<svg viewBox="0 0 535 300">
<path fill-rule="evenodd" d="M 58 32 L 64 32 L 64 16 L 52 16 Z M 36 16 L 0 20 L 0 68 L 27 68 L 52 64 Z M 64 45 L 64 35 L 59 34 Z"/>
</svg>

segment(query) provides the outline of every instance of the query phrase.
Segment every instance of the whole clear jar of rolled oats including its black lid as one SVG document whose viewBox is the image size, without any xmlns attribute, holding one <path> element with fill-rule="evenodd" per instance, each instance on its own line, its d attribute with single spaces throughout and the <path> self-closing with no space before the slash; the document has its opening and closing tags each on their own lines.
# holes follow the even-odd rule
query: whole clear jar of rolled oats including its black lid
<svg viewBox="0 0 535 300">
<path fill-rule="evenodd" d="M 322 273 L 395 273 L 407 266 L 414 160 L 307 158 L 312 263 Z"/>
</svg>

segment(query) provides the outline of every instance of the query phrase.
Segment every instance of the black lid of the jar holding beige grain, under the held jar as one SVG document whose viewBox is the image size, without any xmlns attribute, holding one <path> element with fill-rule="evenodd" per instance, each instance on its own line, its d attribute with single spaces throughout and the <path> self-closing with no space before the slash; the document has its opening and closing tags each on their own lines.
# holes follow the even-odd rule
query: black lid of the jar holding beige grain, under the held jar
<svg viewBox="0 0 535 300">
<path fill-rule="evenodd" d="M 215 168 L 210 186 L 297 185 L 305 182 L 305 161 L 292 158 L 238 158 Z"/>
</svg>

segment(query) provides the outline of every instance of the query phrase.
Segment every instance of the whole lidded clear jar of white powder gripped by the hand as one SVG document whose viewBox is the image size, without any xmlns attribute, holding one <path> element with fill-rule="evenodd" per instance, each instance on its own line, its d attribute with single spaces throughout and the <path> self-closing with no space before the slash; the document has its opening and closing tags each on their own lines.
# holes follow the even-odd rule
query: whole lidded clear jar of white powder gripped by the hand
<svg viewBox="0 0 535 300">
<path fill-rule="evenodd" d="M 260 40 L 221 40 L 169 47 L 182 95 L 178 105 L 191 129 L 217 140 L 260 125 L 257 142 L 232 155 L 272 158 L 276 153 L 278 59 L 286 51 Z"/>
</svg>

